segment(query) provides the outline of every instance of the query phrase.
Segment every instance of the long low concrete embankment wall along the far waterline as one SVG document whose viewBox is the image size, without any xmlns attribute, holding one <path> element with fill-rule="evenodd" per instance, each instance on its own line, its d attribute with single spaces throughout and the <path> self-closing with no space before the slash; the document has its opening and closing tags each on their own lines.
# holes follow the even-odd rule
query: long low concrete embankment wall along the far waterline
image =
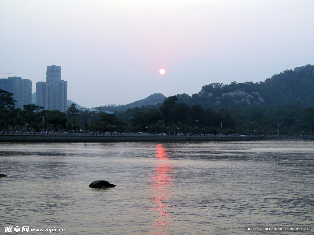
<svg viewBox="0 0 314 235">
<path fill-rule="evenodd" d="M 287 137 L 211 136 L 123 136 L 123 135 L 0 135 L 0 142 L 176 142 L 176 141 L 260 141 L 287 140 Z M 291 138 L 291 141 L 293 138 Z"/>
</svg>

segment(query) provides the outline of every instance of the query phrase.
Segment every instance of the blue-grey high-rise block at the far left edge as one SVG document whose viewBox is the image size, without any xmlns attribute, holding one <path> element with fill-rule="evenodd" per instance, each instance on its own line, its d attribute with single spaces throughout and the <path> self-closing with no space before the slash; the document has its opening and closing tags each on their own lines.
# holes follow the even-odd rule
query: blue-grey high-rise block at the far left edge
<svg viewBox="0 0 314 235">
<path fill-rule="evenodd" d="M 15 108 L 23 109 L 23 105 L 32 104 L 32 81 L 20 77 L 0 79 L 0 89 L 13 93 Z"/>
</svg>

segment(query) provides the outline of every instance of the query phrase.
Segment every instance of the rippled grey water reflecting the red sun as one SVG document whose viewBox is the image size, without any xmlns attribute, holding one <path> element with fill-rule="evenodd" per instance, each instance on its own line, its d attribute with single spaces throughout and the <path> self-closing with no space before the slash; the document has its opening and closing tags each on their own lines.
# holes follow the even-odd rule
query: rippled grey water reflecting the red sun
<svg viewBox="0 0 314 235">
<path fill-rule="evenodd" d="M 303 141 L 1 143 L 0 173 L 8 177 L 0 178 L 0 233 L 5 226 L 87 235 L 313 226 L 313 153 Z M 94 180 L 117 186 L 91 189 Z"/>
</svg>

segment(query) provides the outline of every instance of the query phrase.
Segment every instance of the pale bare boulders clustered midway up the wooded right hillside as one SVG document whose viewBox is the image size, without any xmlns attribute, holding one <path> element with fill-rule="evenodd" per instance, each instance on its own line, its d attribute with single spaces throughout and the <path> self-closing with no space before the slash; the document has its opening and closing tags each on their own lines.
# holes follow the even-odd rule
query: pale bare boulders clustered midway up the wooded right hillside
<svg viewBox="0 0 314 235">
<path fill-rule="evenodd" d="M 251 91 L 251 94 L 255 95 L 255 98 L 257 98 L 258 102 L 265 103 L 263 97 L 261 97 L 261 95 L 258 91 Z M 234 91 L 231 91 L 228 93 L 222 92 L 221 93 L 222 98 L 216 96 L 215 99 L 216 100 L 222 100 L 222 99 L 226 98 L 227 96 L 231 96 L 232 98 L 238 97 L 238 98 L 242 98 L 242 99 L 238 100 L 238 101 L 235 100 L 235 103 L 240 103 L 240 102 L 245 101 L 247 104 L 250 105 L 250 104 L 252 104 L 252 102 L 250 101 L 250 98 L 251 98 L 251 100 L 254 100 L 254 96 L 252 96 L 251 94 L 249 94 L 245 91 L 241 91 L 241 90 L 234 90 Z M 206 93 L 204 90 L 201 90 L 200 92 L 198 92 L 198 96 L 199 97 L 206 97 L 206 98 L 210 99 L 213 96 L 213 94 L 210 92 Z M 254 102 L 256 102 L 256 101 L 254 101 Z M 220 101 L 214 102 L 214 105 L 220 105 L 220 104 L 221 104 Z"/>
</svg>

